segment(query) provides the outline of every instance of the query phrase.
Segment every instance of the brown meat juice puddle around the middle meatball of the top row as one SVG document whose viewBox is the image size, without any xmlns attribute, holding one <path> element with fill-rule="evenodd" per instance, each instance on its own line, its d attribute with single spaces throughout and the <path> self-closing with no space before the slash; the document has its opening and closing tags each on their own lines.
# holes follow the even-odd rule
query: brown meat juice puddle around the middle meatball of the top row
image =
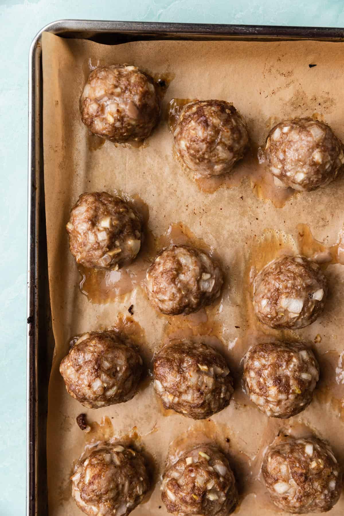
<svg viewBox="0 0 344 516">
<path fill-rule="evenodd" d="M 170 132 L 173 134 L 183 107 L 196 99 L 171 99 L 167 108 L 166 119 Z M 233 188 L 242 184 L 248 178 L 255 196 L 264 201 L 271 201 L 275 207 L 282 208 L 292 196 L 298 192 L 292 188 L 277 187 L 272 174 L 265 163 L 263 148 L 251 143 L 245 156 L 235 165 L 230 174 L 206 178 L 190 170 L 173 148 L 173 155 L 181 167 L 191 176 L 198 188 L 205 193 L 214 193 L 221 187 Z"/>
</svg>

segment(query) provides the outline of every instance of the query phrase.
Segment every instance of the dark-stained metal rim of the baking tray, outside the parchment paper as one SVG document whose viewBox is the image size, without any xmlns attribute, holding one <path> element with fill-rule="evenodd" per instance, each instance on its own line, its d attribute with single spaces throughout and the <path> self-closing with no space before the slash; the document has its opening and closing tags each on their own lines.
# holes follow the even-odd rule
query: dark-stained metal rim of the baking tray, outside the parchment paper
<svg viewBox="0 0 344 516">
<path fill-rule="evenodd" d="M 134 39 L 344 41 L 343 28 L 96 20 L 58 20 L 43 27 L 34 38 L 29 51 L 28 99 L 27 516 L 47 514 L 45 457 L 47 406 L 45 402 L 50 363 L 47 360 L 43 363 L 42 358 L 47 357 L 45 345 L 48 341 L 49 327 L 46 302 L 48 306 L 50 303 L 47 291 L 42 142 L 41 36 L 44 31 L 66 38 L 95 39 L 107 44 Z M 43 337 L 44 342 L 41 342 Z M 48 367 L 44 368 L 44 365 Z M 45 385 L 40 385 L 41 372 L 44 369 Z"/>
</svg>

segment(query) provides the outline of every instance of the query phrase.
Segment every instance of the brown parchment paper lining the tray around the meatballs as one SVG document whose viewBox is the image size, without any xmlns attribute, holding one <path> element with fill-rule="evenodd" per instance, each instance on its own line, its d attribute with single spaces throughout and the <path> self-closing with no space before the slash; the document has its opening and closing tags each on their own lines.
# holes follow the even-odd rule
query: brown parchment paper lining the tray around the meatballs
<svg viewBox="0 0 344 516">
<path fill-rule="evenodd" d="M 254 338 L 261 338 L 257 332 L 281 336 L 259 327 L 252 315 L 251 266 L 259 269 L 281 249 L 294 250 L 300 222 L 308 223 L 318 239 L 334 244 L 343 222 L 344 180 L 341 177 L 325 190 L 292 197 L 280 209 L 271 202 L 258 200 L 247 180 L 240 187 L 204 193 L 174 158 L 172 136 L 164 116 L 139 149 L 115 147 L 106 142 L 100 149 L 90 150 L 89 137 L 79 117 L 78 99 L 90 65 L 132 63 L 155 76 L 173 77 L 163 100 L 163 112 L 171 98 L 233 102 L 246 118 L 255 144 L 264 140 L 268 128 L 277 120 L 317 112 L 344 139 L 341 44 L 154 41 L 104 46 L 43 33 L 42 51 L 48 272 L 56 342 L 48 404 L 49 514 L 80 514 L 70 495 L 69 476 L 73 460 L 80 456 L 86 440 L 130 432 L 138 434 L 138 445 L 152 456 L 156 481 L 153 494 L 133 514 L 167 514 L 160 501 L 159 475 L 170 443 L 177 439 L 182 445 L 185 436 L 189 442 L 214 439 L 228 453 L 239 480 L 238 514 L 274 514 L 275 507 L 254 477 L 262 451 L 279 428 L 289 431 L 291 425 L 294 432 L 301 432 L 303 425 L 307 425 L 328 439 L 339 460 L 344 460 L 344 392 L 343 385 L 338 384 L 344 322 L 342 265 L 326 269 L 331 296 L 325 313 L 312 326 L 296 332 L 301 338 L 316 341 L 323 379 L 313 403 L 289 421 L 269 420 L 261 414 L 240 394 L 238 380 L 231 405 L 206 422 L 164 413 L 149 381 L 126 404 L 91 411 L 65 392 L 59 362 L 68 351 L 71 336 L 116 324 L 121 320 L 119 314 L 128 316 L 128 307 L 133 304 L 133 320 L 144 333 L 141 350 L 147 362 L 161 341 L 170 336 L 207 333 L 212 343 L 222 347 L 238 375 L 242 354 Z M 317 66 L 309 68 L 309 64 Z M 129 196 L 139 196 L 149 206 L 148 225 L 157 246 L 170 224 L 176 224 L 173 232 L 182 221 L 189 237 L 193 234 L 202 238 L 215 249 L 227 278 L 216 306 L 196 317 L 160 316 L 150 307 L 139 285 L 114 302 L 89 302 L 79 292 L 80 276 L 69 252 L 65 223 L 80 193 L 93 190 L 122 190 Z M 176 238 L 181 237 L 180 231 L 175 233 Z M 130 319 L 126 321 L 130 326 Z M 92 428 L 89 434 L 76 425 L 80 412 L 87 413 Z M 331 514 L 339 516 L 343 510 L 344 496 Z"/>
</svg>

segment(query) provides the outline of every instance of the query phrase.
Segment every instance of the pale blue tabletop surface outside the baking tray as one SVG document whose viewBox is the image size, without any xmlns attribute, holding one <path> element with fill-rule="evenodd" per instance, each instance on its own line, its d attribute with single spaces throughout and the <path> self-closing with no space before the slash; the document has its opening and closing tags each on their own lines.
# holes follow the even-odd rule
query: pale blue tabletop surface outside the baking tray
<svg viewBox="0 0 344 516">
<path fill-rule="evenodd" d="M 63 18 L 344 27 L 344 2 L 0 0 L 0 516 L 25 514 L 28 51 Z"/>
</svg>

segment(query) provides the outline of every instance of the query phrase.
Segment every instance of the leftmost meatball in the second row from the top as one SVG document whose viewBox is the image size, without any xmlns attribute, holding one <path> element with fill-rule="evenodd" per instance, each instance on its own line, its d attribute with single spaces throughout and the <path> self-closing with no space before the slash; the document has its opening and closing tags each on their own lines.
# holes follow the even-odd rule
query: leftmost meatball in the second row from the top
<svg viewBox="0 0 344 516">
<path fill-rule="evenodd" d="M 143 239 L 135 208 L 106 192 L 83 193 L 67 223 L 69 247 L 76 262 L 95 269 L 130 264 Z"/>
</svg>

